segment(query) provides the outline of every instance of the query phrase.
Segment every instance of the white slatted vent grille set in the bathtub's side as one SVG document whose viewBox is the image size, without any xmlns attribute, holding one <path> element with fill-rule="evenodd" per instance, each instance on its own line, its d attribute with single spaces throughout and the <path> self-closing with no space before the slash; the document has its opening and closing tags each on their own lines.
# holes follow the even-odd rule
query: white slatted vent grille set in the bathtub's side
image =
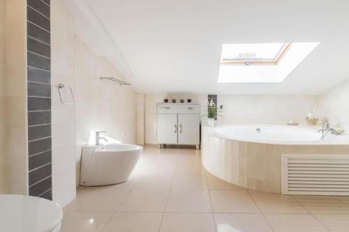
<svg viewBox="0 0 349 232">
<path fill-rule="evenodd" d="M 281 193 L 349 196 L 349 155 L 281 155 Z"/>
</svg>

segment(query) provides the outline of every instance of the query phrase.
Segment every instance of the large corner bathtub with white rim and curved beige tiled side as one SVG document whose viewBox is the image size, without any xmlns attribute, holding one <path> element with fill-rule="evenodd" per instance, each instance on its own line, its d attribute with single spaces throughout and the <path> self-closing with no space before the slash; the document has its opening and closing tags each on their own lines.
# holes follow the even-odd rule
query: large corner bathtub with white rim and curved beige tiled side
<svg viewBox="0 0 349 232">
<path fill-rule="evenodd" d="M 349 155 L 349 134 L 328 134 L 319 127 L 271 125 L 202 126 L 202 164 L 225 181 L 281 193 L 281 155 Z"/>
</svg>

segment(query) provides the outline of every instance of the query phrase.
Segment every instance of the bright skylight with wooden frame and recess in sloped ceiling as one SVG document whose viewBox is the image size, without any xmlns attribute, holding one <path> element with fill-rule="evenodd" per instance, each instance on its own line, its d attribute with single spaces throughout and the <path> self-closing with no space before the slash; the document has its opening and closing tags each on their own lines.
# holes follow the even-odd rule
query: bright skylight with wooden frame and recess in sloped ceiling
<svg viewBox="0 0 349 232">
<path fill-rule="evenodd" d="M 225 44 L 219 83 L 283 82 L 319 42 Z"/>
</svg>

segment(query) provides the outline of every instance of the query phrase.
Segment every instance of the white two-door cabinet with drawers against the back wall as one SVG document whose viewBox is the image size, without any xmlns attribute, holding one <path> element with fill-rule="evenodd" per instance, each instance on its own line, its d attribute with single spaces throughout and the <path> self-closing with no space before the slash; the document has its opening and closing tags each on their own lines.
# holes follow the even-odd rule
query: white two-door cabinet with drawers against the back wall
<svg viewBox="0 0 349 232">
<path fill-rule="evenodd" d="M 200 145 L 200 104 L 158 103 L 157 143 Z"/>
</svg>

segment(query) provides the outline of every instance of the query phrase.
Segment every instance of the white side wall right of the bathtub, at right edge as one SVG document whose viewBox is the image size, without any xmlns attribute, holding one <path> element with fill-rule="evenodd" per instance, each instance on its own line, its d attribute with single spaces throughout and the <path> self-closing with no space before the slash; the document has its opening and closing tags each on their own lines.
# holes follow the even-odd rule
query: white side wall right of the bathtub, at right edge
<svg viewBox="0 0 349 232">
<path fill-rule="evenodd" d="M 349 127 L 349 80 L 319 96 L 319 111 L 331 125 Z"/>
</svg>

